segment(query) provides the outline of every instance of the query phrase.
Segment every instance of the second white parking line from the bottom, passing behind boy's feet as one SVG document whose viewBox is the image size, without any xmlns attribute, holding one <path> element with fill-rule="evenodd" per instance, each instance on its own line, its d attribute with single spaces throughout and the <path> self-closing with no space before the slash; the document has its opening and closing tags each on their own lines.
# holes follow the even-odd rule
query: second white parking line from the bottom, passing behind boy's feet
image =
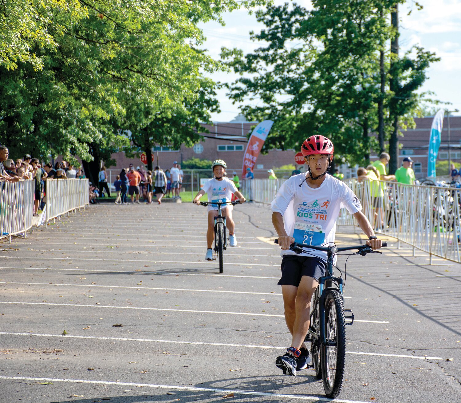
<svg viewBox="0 0 461 403">
<path fill-rule="evenodd" d="M 98 337 L 98 336 L 78 336 L 68 334 L 41 334 L 41 333 L 19 333 L 19 332 L 0 332 L 3 335 L 10 336 L 37 336 L 37 337 L 60 337 L 60 338 L 83 338 L 93 340 L 118 340 L 118 341 L 140 341 L 149 343 L 170 343 L 170 344 L 195 344 L 207 346 L 222 346 L 222 347 L 248 347 L 252 349 L 272 349 L 272 350 L 285 350 L 283 346 L 261 346 L 252 344 L 230 344 L 230 343 L 206 343 L 206 342 L 192 342 L 192 341 L 179 341 L 179 340 L 156 340 L 149 338 L 121 338 L 121 337 Z M 377 356 L 377 357 L 399 357 L 399 358 L 414 358 L 418 360 L 443 360 L 442 357 L 429 357 L 429 356 L 405 356 L 401 354 L 385 354 L 385 353 L 365 353 L 358 351 L 346 351 L 346 354 L 355 354 L 362 356 Z"/>
</svg>

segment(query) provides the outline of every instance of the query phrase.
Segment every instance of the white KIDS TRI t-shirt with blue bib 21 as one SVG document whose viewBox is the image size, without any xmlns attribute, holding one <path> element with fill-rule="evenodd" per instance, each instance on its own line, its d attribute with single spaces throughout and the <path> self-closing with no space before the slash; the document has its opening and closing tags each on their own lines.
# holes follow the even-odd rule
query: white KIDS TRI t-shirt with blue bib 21
<svg viewBox="0 0 461 403">
<path fill-rule="evenodd" d="M 283 215 L 285 231 L 295 238 L 295 242 L 328 246 L 335 241 L 340 208 L 346 207 L 349 213 L 354 214 L 362 209 L 361 203 L 348 185 L 331 175 L 325 175 L 325 180 L 317 189 L 311 188 L 307 182 L 301 184 L 305 178 L 306 173 L 288 178 L 272 201 L 272 211 Z M 296 253 L 282 250 L 281 255 Z M 319 250 L 302 255 L 327 258 L 327 253 Z"/>
</svg>

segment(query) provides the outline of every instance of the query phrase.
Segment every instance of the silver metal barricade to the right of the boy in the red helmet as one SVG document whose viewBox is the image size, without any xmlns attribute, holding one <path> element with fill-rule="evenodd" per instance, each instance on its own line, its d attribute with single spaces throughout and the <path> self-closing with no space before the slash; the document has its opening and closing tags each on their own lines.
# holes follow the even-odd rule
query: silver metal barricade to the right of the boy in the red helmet
<svg viewBox="0 0 461 403">
<path fill-rule="evenodd" d="M 461 262 L 460 189 L 379 182 L 384 187 L 382 203 L 372 189 L 376 181 L 347 181 L 375 232 L 425 251 L 430 258 Z M 341 210 L 338 224 L 355 225 L 346 209 Z"/>
</svg>

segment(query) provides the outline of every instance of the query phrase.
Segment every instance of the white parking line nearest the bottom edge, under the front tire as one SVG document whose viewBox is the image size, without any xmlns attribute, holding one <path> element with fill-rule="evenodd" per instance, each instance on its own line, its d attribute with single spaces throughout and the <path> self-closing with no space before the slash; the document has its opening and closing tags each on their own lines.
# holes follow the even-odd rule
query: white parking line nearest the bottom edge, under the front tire
<svg viewBox="0 0 461 403">
<path fill-rule="evenodd" d="M 237 389 L 214 389 L 214 388 L 196 388 L 191 386 L 174 386 L 174 385 L 155 385 L 155 384 L 141 384 L 132 382 L 118 382 L 118 381 L 104 381 L 104 380 L 88 380 L 88 379 L 58 379 L 58 378 L 31 378 L 25 376 L 0 376 L 0 379 L 12 379 L 12 380 L 30 380 L 34 382 L 69 382 L 69 383 L 86 383 L 93 385 L 122 385 L 122 386 L 135 386 L 135 387 L 149 387 L 157 389 L 173 389 L 181 391 L 200 391 L 200 392 L 215 392 L 215 393 L 234 393 L 236 395 L 247 395 L 247 396 L 265 396 L 265 397 L 277 397 L 287 399 L 300 399 L 310 400 L 312 402 L 332 402 L 332 403 L 367 403 L 360 402 L 358 400 L 343 400 L 343 399 L 328 399 L 326 397 L 309 396 L 309 395 L 283 395 L 278 393 L 266 393 L 257 391 L 241 391 Z"/>
</svg>

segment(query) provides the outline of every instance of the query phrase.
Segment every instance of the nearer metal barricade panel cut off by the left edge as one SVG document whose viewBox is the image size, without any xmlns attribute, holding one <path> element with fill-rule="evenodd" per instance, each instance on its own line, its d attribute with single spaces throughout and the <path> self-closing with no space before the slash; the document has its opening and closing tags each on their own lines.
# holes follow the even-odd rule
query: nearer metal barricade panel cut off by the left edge
<svg viewBox="0 0 461 403">
<path fill-rule="evenodd" d="M 0 182 L 0 239 L 32 230 L 35 181 Z"/>
</svg>

